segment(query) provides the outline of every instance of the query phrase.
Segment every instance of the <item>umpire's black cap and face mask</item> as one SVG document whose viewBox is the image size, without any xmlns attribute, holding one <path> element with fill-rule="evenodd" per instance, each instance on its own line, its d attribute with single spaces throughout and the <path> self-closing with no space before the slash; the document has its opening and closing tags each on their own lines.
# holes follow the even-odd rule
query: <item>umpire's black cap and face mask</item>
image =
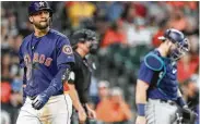
<svg viewBox="0 0 200 124">
<path fill-rule="evenodd" d="M 71 37 L 71 46 L 77 48 L 78 42 L 91 41 L 90 52 L 95 53 L 98 48 L 96 33 L 91 29 L 80 29 L 73 33 Z"/>
</svg>

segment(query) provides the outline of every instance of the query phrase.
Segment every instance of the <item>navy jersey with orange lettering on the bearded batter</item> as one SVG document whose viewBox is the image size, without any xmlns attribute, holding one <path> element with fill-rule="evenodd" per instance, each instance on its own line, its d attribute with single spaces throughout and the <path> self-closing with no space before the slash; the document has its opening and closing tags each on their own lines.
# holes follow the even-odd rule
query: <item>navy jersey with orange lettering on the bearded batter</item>
<svg viewBox="0 0 200 124">
<path fill-rule="evenodd" d="M 48 88 L 58 71 L 70 67 L 74 55 L 69 39 L 54 30 L 43 37 L 35 37 L 34 33 L 24 38 L 20 47 L 20 65 L 26 67 L 25 94 L 34 97 Z M 59 79 L 61 84 L 61 79 Z M 61 88 L 56 95 L 63 92 Z"/>
</svg>

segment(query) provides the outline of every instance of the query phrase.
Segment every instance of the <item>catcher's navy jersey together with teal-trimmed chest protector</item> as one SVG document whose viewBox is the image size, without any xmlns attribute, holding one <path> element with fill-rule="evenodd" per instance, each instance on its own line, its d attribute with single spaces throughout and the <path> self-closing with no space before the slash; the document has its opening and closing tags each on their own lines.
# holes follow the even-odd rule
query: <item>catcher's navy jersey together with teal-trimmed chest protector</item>
<svg viewBox="0 0 200 124">
<path fill-rule="evenodd" d="M 150 85 L 148 98 L 176 100 L 178 97 L 176 62 L 161 57 L 156 49 L 144 57 L 139 79 Z"/>
</svg>

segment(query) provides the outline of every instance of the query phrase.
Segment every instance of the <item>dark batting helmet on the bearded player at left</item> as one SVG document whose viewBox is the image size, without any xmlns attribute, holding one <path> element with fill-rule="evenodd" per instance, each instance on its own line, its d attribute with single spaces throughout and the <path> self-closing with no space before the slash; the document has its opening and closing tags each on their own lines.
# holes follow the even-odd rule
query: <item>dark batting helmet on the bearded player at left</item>
<svg viewBox="0 0 200 124">
<path fill-rule="evenodd" d="M 46 1 L 33 1 L 31 2 L 28 7 L 28 15 L 33 15 L 34 13 L 38 11 L 48 11 L 50 13 L 50 16 L 52 15 L 52 10 L 50 9 L 48 2 Z"/>
</svg>

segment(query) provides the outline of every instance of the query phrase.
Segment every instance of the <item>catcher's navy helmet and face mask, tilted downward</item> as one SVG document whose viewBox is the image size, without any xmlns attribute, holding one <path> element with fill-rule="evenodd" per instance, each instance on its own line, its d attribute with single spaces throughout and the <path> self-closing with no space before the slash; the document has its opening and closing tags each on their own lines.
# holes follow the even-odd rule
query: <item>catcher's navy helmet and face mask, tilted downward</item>
<svg viewBox="0 0 200 124">
<path fill-rule="evenodd" d="M 173 60 L 177 60 L 180 57 L 183 57 L 186 52 L 189 51 L 189 40 L 185 37 L 185 35 L 174 28 L 169 28 L 165 32 L 164 36 L 158 37 L 158 39 L 165 41 L 166 39 L 169 39 L 173 44 L 177 46 L 177 49 L 172 51 L 169 57 Z"/>
</svg>

